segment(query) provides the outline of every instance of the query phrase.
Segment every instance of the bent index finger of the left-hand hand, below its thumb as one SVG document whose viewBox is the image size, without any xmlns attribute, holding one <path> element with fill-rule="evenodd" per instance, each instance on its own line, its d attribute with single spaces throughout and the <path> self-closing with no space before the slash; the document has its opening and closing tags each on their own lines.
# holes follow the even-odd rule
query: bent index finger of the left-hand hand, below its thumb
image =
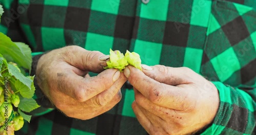
<svg viewBox="0 0 256 135">
<path fill-rule="evenodd" d="M 119 77 L 120 72 L 116 69 L 105 70 L 90 78 L 77 76 L 72 71 L 63 71 L 57 73 L 55 82 L 59 91 L 79 102 L 84 102 L 109 89 Z"/>
</svg>

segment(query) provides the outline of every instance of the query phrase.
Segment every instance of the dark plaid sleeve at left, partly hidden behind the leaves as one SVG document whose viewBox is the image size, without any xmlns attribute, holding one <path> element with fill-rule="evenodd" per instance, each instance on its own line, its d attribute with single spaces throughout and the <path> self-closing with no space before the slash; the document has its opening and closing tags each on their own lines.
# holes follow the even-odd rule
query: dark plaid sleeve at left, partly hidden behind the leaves
<svg viewBox="0 0 256 135">
<path fill-rule="evenodd" d="M 0 0 L 0 4 L 4 8 L 4 14 L 1 17 L 0 32 L 10 37 L 12 41 L 25 42 L 28 44 L 27 39 L 20 28 L 19 21 L 18 21 L 19 20 L 18 14 L 16 14 L 17 12 L 14 10 L 14 9 L 17 9 L 17 0 L 14 0 L 14 1 Z M 33 50 L 31 46 L 30 48 Z M 30 75 L 32 76 L 35 75 L 37 61 L 42 54 L 44 54 L 44 52 L 32 53 L 33 62 L 32 62 L 32 68 L 31 68 L 32 71 Z M 36 87 L 36 90 L 33 98 L 37 101 L 40 107 L 31 111 L 30 115 L 40 116 L 40 115 L 49 113 L 55 107 L 54 105 L 51 104 L 49 99 L 41 92 L 35 80 L 36 79 L 34 79 L 34 85 Z"/>
</svg>

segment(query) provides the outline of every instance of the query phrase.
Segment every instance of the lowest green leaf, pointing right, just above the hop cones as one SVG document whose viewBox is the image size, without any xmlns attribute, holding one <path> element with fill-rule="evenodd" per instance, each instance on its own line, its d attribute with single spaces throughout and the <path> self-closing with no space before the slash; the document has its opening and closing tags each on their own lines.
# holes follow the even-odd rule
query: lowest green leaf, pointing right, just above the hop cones
<svg viewBox="0 0 256 135">
<path fill-rule="evenodd" d="M 36 101 L 32 98 L 20 98 L 20 102 L 18 104 L 18 108 L 29 113 L 30 111 L 40 107 Z"/>
</svg>

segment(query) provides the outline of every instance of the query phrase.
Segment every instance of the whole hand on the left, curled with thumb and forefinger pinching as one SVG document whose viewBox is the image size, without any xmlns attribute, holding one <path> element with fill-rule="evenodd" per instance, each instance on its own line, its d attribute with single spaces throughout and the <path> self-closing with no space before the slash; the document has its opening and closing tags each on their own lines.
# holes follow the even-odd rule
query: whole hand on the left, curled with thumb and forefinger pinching
<svg viewBox="0 0 256 135">
<path fill-rule="evenodd" d="M 68 117 L 94 118 L 120 101 L 120 88 L 127 80 L 116 69 L 103 71 L 108 58 L 98 51 L 87 51 L 78 46 L 53 50 L 38 61 L 37 83 Z M 90 77 L 88 72 L 101 73 Z"/>
</svg>

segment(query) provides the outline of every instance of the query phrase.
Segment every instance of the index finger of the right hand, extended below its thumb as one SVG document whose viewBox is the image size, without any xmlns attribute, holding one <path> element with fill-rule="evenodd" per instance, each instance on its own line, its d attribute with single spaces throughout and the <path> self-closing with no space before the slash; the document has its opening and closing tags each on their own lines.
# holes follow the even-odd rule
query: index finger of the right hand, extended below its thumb
<svg viewBox="0 0 256 135">
<path fill-rule="evenodd" d="M 127 66 L 124 69 L 124 75 L 126 77 L 129 76 L 128 80 L 130 83 L 134 88 L 138 89 L 142 95 L 160 106 L 166 107 L 166 105 L 168 105 L 168 107 L 179 107 L 187 96 L 186 91 L 184 91 L 182 87 L 160 83 L 146 76 L 133 66 Z"/>
</svg>

